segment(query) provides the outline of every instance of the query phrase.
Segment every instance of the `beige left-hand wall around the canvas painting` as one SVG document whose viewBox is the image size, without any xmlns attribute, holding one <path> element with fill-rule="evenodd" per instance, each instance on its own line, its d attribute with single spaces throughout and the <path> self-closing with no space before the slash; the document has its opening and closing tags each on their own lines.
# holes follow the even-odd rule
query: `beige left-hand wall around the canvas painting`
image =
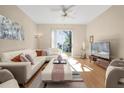
<svg viewBox="0 0 124 93">
<path fill-rule="evenodd" d="M 24 29 L 24 41 L 19 40 L 0 40 L 0 52 L 8 50 L 18 50 L 23 48 L 35 48 L 36 25 L 16 6 L 0 6 L 0 15 L 10 18 L 19 23 Z"/>
</svg>

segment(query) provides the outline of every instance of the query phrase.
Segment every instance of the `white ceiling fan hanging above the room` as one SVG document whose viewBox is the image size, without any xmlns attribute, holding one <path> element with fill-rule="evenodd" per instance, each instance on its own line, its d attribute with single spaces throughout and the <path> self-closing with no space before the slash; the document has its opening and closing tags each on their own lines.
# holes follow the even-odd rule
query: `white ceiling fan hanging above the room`
<svg viewBox="0 0 124 93">
<path fill-rule="evenodd" d="M 56 8 L 56 9 L 52 9 L 52 10 L 61 12 L 60 16 L 63 18 L 66 18 L 66 17 L 73 18 L 73 16 L 71 16 L 71 12 L 73 12 L 72 8 L 74 6 L 75 5 L 61 5 L 60 8 Z"/>
</svg>

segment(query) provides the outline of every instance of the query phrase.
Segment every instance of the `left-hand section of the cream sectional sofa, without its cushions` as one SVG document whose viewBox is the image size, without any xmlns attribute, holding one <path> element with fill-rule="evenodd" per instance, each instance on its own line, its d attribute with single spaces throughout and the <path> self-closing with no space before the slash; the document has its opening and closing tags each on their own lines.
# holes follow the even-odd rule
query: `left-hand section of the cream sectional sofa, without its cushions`
<svg viewBox="0 0 124 93">
<path fill-rule="evenodd" d="M 34 65 L 30 62 L 12 62 L 11 59 L 21 53 L 29 53 L 34 59 Z M 19 84 L 27 83 L 31 77 L 40 69 L 45 63 L 46 57 L 37 57 L 35 50 L 19 50 L 4 52 L 1 54 L 0 67 L 9 69 L 15 76 Z"/>
</svg>

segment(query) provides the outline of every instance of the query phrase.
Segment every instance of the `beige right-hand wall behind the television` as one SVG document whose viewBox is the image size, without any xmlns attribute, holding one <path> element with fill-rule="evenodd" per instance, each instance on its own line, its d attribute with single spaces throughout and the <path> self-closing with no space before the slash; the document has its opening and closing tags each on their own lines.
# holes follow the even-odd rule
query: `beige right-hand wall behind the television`
<svg viewBox="0 0 124 93">
<path fill-rule="evenodd" d="M 124 6 L 112 6 L 87 25 L 87 39 L 110 41 L 112 57 L 124 58 Z"/>
</svg>

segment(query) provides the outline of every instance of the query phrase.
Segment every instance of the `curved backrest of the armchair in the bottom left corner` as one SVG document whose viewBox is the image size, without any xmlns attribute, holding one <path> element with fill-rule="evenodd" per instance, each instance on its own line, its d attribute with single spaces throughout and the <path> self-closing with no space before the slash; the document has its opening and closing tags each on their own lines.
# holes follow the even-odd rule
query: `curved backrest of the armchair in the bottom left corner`
<svg viewBox="0 0 124 93">
<path fill-rule="evenodd" d="M 7 69 L 0 69 L 0 83 L 14 79 L 12 73 Z"/>
</svg>

